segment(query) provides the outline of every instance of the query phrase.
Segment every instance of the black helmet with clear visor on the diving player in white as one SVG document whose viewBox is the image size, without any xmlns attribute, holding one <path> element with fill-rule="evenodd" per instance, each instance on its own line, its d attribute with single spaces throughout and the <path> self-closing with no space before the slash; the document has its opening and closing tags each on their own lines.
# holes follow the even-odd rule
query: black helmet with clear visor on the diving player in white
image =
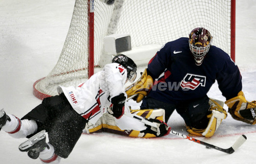
<svg viewBox="0 0 256 164">
<path fill-rule="evenodd" d="M 129 80 L 131 83 L 134 82 L 134 80 L 136 79 L 136 76 L 137 76 L 137 73 L 136 73 L 137 65 L 131 58 L 129 58 L 123 54 L 117 55 L 113 58 L 112 63 L 119 63 L 123 67 L 125 67 L 127 70 L 127 80 Z"/>
</svg>

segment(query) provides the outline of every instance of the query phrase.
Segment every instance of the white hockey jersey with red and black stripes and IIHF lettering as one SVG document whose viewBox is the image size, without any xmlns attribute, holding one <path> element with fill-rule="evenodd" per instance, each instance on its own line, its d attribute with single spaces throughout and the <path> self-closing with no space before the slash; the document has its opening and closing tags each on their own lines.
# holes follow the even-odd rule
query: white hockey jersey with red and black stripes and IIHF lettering
<svg viewBox="0 0 256 164">
<path fill-rule="evenodd" d="M 111 105 L 111 99 L 124 93 L 127 71 L 118 64 L 106 64 L 102 71 L 94 74 L 87 82 L 74 87 L 57 88 L 64 93 L 74 110 L 84 119 L 95 124 Z M 126 96 L 127 97 L 127 96 Z"/>
</svg>

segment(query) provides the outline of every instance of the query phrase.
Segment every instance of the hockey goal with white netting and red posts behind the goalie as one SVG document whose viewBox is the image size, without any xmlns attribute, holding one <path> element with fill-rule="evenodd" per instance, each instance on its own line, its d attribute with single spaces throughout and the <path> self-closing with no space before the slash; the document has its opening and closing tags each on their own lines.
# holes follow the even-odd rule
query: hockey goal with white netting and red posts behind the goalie
<svg viewBox="0 0 256 164">
<path fill-rule="evenodd" d="M 188 37 L 194 28 L 204 27 L 213 36 L 212 45 L 234 60 L 234 0 L 116 0 L 113 5 L 102 1 L 75 1 L 58 61 L 49 75 L 33 85 L 37 98 L 57 95 L 57 86 L 77 86 L 93 75 L 100 62 L 103 39 L 110 34 L 130 34 L 133 50 Z"/>
</svg>

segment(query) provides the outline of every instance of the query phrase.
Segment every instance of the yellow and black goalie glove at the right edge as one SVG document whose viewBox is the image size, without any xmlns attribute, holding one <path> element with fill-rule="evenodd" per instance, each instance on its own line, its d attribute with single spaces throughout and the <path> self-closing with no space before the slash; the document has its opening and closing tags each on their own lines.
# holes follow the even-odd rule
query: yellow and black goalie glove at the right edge
<svg viewBox="0 0 256 164">
<path fill-rule="evenodd" d="M 252 125 L 256 124 L 256 101 L 248 102 L 243 91 L 240 91 L 237 97 L 227 100 L 225 104 L 233 119 Z"/>
</svg>

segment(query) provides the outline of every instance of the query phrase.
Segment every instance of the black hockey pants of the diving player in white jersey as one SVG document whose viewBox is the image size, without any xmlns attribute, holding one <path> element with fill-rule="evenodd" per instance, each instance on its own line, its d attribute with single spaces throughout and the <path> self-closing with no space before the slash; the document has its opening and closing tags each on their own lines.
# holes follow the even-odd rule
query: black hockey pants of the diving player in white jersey
<svg viewBox="0 0 256 164">
<path fill-rule="evenodd" d="M 38 128 L 34 134 L 45 129 L 55 154 L 62 158 L 69 156 L 87 122 L 72 108 L 63 93 L 44 99 L 23 119 L 36 121 Z"/>
</svg>

